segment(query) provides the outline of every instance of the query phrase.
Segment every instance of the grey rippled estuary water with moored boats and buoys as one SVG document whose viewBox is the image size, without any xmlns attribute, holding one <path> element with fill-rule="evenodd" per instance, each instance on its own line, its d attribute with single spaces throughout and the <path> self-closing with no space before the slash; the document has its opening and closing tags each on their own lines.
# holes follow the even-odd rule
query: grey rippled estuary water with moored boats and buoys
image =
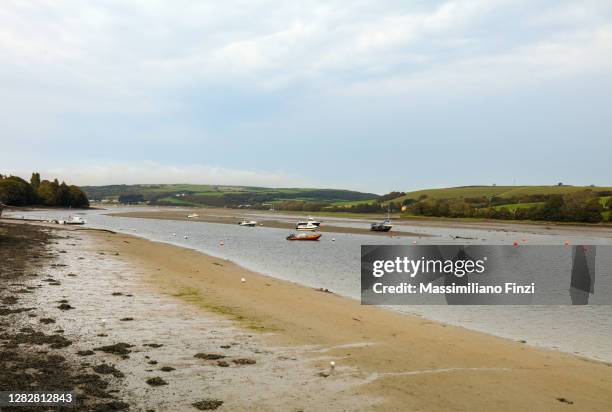
<svg viewBox="0 0 612 412">
<path fill-rule="evenodd" d="M 415 236 L 375 236 L 324 233 L 319 242 L 288 242 L 287 229 L 245 228 L 198 221 L 171 221 L 113 217 L 109 213 L 135 208 L 87 210 L 78 214 L 88 227 L 110 229 L 195 249 L 231 260 L 247 269 L 315 288 L 327 288 L 353 299 L 360 298 L 361 245 L 527 244 L 612 245 L 610 232 L 576 228 L 571 235 L 534 233 L 528 228 L 499 231 L 476 228 L 428 227 L 402 224 Z M 146 208 L 152 210 L 152 208 Z M 69 211 L 34 210 L 6 213 L 32 219 L 65 219 Z M 186 214 L 189 212 L 186 212 Z M 266 216 L 270 218 L 269 215 Z M 274 219 L 294 220 L 275 215 Z M 334 226 L 364 227 L 367 221 L 334 218 Z M 223 245 L 220 242 L 223 241 Z M 610 249 L 608 249 L 610 250 Z M 609 261 L 607 257 L 605 261 Z M 601 266 L 601 265 L 600 265 Z M 610 274 L 610 267 L 597 268 Z M 393 306 L 398 310 L 528 344 L 576 353 L 612 362 L 612 306 Z"/>
</svg>

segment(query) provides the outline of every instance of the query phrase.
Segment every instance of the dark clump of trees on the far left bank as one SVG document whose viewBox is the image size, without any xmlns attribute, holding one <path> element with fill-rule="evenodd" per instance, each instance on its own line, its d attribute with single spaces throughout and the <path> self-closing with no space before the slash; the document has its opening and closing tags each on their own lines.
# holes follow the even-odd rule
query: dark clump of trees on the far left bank
<svg viewBox="0 0 612 412">
<path fill-rule="evenodd" d="M 32 173 L 29 182 L 0 174 L 0 202 L 9 206 L 89 207 L 87 195 L 78 186 L 57 179 L 41 180 L 39 173 Z"/>
</svg>

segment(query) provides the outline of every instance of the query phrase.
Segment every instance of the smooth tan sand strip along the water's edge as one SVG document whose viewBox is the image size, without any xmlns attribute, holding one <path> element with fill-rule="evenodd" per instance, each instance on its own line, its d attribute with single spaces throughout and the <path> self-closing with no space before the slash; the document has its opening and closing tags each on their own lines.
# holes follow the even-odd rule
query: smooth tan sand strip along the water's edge
<svg viewBox="0 0 612 412">
<path fill-rule="evenodd" d="M 382 409 L 401 409 L 406 402 L 424 409 L 563 407 L 557 398 L 592 410 L 612 405 L 612 368 L 603 362 L 361 306 L 178 246 L 123 234 L 96 237 L 121 246 L 160 293 L 263 332 L 276 345 L 327 347 L 339 365 L 370 379 L 358 393 L 383 396 Z M 314 361 L 318 368 L 325 363 Z M 512 391 L 499 393 L 500 383 Z M 589 390 L 577 389 L 583 385 Z M 440 399 L 446 386 L 456 390 Z"/>
</svg>

